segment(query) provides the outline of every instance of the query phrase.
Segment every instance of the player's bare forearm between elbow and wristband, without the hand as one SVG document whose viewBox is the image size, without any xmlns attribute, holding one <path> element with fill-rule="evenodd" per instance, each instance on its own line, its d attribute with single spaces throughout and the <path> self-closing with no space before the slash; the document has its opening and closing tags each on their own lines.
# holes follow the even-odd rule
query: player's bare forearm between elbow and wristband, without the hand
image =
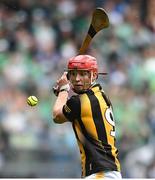
<svg viewBox="0 0 155 180">
<path fill-rule="evenodd" d="M 62 91 L 59 93 L 56 102 L 53 107 L 53 120 L 55 123 L 64 123 L 67 121 L 63 115 L 63 106 L 66 104 L 68 98 L 68 92 Z"/>
</svg>

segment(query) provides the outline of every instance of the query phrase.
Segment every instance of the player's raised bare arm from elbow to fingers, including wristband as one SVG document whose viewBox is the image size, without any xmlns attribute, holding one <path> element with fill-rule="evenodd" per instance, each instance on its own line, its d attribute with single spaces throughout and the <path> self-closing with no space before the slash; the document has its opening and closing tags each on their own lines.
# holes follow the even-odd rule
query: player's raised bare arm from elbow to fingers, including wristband
<svg viewBox="0 0 155 180">
<path fill-rule="evenodd" d="M 63 114 L 63 106 L 66 104 L 68 99 L 69 82 L 64 73 L 61 78 L 57 81 L 60 92 L 58 93 L 57 99 L 53 107 L 53 120 L 55 123 L 64 123 L 67 118 Z"/>
</svg>

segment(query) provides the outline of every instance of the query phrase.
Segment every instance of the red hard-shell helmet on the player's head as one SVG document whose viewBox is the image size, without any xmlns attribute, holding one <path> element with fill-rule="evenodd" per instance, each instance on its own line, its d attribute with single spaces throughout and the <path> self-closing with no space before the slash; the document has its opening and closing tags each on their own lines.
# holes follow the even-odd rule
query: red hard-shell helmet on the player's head
<svg viewBox="0 0 155 180">
<path fill-rule="evenodd" d="M 78 55 L 68 61 L 69 70 L 88 70 L 98 73 L 96 58 L 90 55 Z"/>
</svg>

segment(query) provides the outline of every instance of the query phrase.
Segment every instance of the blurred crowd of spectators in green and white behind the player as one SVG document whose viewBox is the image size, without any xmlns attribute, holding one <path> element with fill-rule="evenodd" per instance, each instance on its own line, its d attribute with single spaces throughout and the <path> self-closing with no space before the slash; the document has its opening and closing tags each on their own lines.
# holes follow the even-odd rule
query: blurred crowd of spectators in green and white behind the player
<svg viewBox="0 0 155 180">
<path fill-rule="evenodd" d="M 155 178 L 154 0 L 0 1 L 0 176 L 12 151 L 52 152 L 59 161 L 62 151 L 68 158 L 78 152 L 70 124 L 52 121 L 51 89 L 78 54 L 96 7 L 106 10 L 110 27 L 87 53 L 108 72 L 98 81 L 113 102 L 123 177 Z M 36 107 L 27 105 L 30 95 Z M 74 156 L 73 166 L 79 162 Z"/>
</svg>

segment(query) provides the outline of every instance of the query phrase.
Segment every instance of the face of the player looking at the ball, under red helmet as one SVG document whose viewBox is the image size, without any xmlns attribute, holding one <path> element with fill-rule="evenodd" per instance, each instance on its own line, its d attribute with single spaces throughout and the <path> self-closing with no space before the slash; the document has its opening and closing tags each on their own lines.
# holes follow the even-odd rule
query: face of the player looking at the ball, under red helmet
<svg viewBox="0 0 155 180">
<path fill-rule="evenodd" d="M 87 70 L 71 70 L 70 82 L 73 85 L 75 92 L 81 92 L 89 89 L 91 86 L 91 72 Z"/>
</svg>

